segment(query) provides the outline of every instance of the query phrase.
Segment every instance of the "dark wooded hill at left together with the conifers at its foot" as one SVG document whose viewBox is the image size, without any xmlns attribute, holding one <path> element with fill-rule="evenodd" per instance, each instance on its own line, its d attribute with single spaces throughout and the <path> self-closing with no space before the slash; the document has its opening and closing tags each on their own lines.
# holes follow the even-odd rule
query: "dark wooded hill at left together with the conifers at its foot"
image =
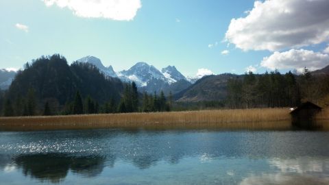
<svg viewBox="0 0 329 185">
<path fill-rule="evenodd" d="M 73 62 L 59 55 L 42 56 L 27 63 L 9 90 L 0 91 L 2 116 L 108 114 L 169 111 L 163 92 L 138 93 L 134 82 L 106 77 L 95 66 Z M 146 106 L 147 105 L 147 106 Z"/>
</svg>

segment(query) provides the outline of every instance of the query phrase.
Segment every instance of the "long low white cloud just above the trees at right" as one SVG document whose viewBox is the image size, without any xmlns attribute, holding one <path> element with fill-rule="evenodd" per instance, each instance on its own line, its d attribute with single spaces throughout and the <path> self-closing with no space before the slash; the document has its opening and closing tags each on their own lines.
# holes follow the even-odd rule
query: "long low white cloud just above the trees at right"
<svg viewBox="0 0 329 185">
<path fill-rule="evenodd" d="M 304 49 L 291 49 L 285 52 L 274 52 L 263 58 L 261 66 L 268 69 L 296 69 L 303 71 L 304 67 L 310 71 L 322 69 L 329 64 L 329 55 Z"/>
</svg>

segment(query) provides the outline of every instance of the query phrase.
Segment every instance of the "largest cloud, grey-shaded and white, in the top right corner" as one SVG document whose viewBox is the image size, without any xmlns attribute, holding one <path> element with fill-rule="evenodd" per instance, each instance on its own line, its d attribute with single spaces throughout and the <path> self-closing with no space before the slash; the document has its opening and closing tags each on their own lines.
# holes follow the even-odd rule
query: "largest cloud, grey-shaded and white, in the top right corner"
<svg viewBox="0 0 329 185">
<path fill-rule="evenodd" d="M 326 42 L 328 10 L 328 0 L 255 1 L 247 16 L 231 20 L 226 41 L 245 51 L 279 51 Z"/>
</svg>

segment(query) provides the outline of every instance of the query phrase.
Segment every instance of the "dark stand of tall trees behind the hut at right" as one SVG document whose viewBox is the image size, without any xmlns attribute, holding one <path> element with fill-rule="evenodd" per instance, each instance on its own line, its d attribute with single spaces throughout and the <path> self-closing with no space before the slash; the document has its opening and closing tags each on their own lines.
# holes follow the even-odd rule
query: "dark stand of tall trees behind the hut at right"
<svg viewBox="0 0 329 185">
<path fill-rule="evenodd" d="M 228 80 L 228 108 L 295 107 L 302 101 L 323 106 L 329 93 L 329 78 L 313 76 L 308 69 L 302 75 L 279 71 L 255 75 L 252 72 Z"/>
</svg>

